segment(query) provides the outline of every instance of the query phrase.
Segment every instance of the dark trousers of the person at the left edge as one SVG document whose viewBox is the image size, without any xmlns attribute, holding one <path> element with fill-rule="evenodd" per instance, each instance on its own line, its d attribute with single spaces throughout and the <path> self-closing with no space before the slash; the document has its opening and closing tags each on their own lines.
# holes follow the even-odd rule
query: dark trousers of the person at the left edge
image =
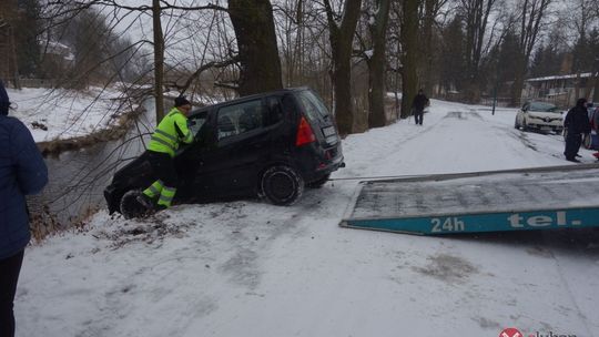
<svg viewBox="0 0 599 337">
<path fill-rule="evenodd" d="M 14 336 L 14 314 L 12 312 L 17 282 L 23 262 L 23 252 L 0 259 L 0 337 Z"/>
</svg>

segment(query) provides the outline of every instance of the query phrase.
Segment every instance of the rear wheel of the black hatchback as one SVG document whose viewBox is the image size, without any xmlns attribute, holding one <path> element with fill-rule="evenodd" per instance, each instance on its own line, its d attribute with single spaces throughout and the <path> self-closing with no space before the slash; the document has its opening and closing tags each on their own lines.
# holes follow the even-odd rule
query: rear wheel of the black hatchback
<svg viewBox="0 0 599 337">
<path fill-rule="evenodd" d="M 292 205 L 304 192 L 304 180 L 290 166 L 273 166 L 262 175 L 261 190 L 275 205 Z"/>
</svg>

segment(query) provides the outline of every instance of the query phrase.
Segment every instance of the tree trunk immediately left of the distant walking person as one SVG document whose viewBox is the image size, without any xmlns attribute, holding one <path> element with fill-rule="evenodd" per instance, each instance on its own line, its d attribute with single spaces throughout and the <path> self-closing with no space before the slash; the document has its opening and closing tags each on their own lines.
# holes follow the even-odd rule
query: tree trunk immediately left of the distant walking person
<svg viewBox="0 0 599 337">
<path fill-rule="evenodd" d="M 412 101 L 418 89 L 418 0 L 404 1 L 402 24 L 403 67 L 402 67 L 402 119 L 412 114 Z"/>
</svg>

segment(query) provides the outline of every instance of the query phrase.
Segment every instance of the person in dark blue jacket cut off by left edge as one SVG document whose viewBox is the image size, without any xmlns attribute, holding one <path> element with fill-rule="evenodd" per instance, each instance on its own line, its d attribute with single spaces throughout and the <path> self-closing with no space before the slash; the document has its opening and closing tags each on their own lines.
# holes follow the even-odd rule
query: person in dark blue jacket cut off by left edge
<svg viewBox="0 0 599 337">
<path fill-rule="evenodd" d="M 0 336 L 14 336 L 12 312 L 24 247 L 31 238 L 27 194 L 41 192 L 48 168 L 27 126 L 8 116 L 0 81 Z"/>
</svg>

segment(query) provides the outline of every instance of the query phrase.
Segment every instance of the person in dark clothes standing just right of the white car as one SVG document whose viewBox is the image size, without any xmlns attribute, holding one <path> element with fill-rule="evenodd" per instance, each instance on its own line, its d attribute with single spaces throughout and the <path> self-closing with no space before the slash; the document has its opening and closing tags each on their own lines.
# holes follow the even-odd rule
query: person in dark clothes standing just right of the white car
<svg viewBox="0 0 599 337">
<path fill-rule="evenodd" d="M 569 162 L 580 163 L 576 159 L 580 144 L 582 144 L 582 134 L 589 133 L 590 122 L 587 113 L 587 100 L 578 99 L 576 106 L 568 111 L 566 120 L 564 120 L 564 127 L 568 131 L 566 135 L 566 160 Z"/>
</svg>

